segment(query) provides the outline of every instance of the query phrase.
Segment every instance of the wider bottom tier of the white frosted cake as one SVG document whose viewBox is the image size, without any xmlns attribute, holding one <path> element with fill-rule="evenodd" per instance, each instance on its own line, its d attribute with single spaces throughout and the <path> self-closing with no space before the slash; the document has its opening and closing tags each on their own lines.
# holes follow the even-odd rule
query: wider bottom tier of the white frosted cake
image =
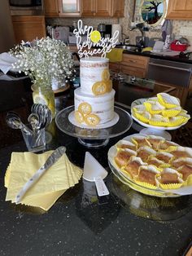
<svg viewBox="0 0 192 256">
<path fill-rule="evenodd" d="M 107 123 L 114 118 L 114 96 L 115 90 L 105 95 L 94 96 L 86 95 L 81 88 L 77 88 L 74 91 L 75 111 L 79 111 L 80 104 L 89 104 L 90 114 L 99 118 L 99 125 Z"/>
</svg>

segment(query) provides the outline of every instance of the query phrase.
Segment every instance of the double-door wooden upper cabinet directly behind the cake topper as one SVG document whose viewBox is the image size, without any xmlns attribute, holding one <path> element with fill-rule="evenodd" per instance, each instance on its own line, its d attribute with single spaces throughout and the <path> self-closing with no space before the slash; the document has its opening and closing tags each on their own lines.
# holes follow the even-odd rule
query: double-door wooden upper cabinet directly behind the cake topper
<svg viewBox="0 0 192 256">
<path fill-rule="evenodd" d="M 111 0 L 81 0 L 81 16 L 111 16 Z"/>
</svg>

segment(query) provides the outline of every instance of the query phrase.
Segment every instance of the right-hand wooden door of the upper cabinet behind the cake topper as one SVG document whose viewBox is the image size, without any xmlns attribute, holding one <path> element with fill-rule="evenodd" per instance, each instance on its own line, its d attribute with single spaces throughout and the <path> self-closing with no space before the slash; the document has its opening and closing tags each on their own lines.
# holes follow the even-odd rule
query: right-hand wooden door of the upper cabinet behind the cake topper
<svg viewBox="0 0 192 256">
<path fill-rule="evenodd" d="M 118 1 L 118 0 L 117 0 Z M 111 0 L 96 0 L 95 2 L 95 15 L 96 16 L 111 16 Z"/>
</svg>

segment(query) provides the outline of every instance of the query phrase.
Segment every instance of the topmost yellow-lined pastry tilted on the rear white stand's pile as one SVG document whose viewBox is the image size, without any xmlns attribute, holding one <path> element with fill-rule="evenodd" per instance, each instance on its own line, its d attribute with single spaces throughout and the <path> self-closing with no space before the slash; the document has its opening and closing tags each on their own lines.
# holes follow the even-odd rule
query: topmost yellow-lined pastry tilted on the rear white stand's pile
<svg viewBox="0 0 192 256">
<path fill-rule="evenodd" d="M 174 96 L 168 95 L 167 93 L 161 92 L 157 94 L 159 104 L 162 104 L 165 108 L 177 108 L 180 106 L 180 99 Z"/>
</svg>

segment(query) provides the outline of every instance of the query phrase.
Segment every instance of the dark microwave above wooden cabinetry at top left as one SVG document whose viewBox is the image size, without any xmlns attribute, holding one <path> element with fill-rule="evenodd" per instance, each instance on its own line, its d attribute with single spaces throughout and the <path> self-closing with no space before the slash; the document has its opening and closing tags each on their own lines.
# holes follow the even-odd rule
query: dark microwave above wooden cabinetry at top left
<svg viewBox="0 0 192 256">
<path fill-rule="evenodd" d="M 43 0 L 9 0 L 11 15 L 44 15 Z"/>
</svg>

